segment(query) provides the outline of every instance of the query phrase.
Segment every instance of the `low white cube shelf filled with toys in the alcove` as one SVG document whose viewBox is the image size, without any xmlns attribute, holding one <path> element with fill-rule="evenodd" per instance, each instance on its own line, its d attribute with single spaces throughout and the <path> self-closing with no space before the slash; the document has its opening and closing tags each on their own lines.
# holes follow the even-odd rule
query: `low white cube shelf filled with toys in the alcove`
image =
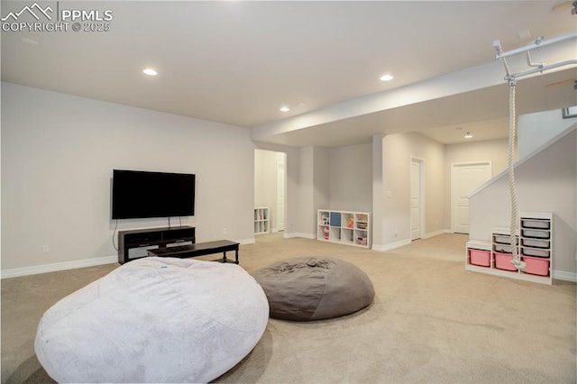
<svg viewBox="0 0 577 384">
<path fill-rule="evenodd" d="M 319 209 L 316 239 L 371 248 L 371 214 L 368 212 Z"/>
</svg>

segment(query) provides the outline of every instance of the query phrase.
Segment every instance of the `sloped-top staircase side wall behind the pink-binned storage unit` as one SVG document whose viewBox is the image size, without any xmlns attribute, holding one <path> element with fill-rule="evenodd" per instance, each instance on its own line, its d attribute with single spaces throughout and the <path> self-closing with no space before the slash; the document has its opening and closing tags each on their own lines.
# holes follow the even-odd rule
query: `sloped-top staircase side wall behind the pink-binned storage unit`
<svg viewBox="0 0 577 384">
<path fill-rule="evenodd" d="M 573 130 L 515 169 L 519 212 L 554 213 L 554 270 L 575 273 L 576 138 Z M 508 227 L 507 173 L 470 198 L 470 238 L 490 241 L 491 228 Z"/>
</svg>

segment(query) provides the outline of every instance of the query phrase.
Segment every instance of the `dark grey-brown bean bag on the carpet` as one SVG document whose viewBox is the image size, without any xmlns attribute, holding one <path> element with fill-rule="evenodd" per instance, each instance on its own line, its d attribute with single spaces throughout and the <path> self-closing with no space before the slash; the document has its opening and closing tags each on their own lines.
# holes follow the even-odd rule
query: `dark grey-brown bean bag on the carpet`
<svg viewBox="0 0 577 384">
<path fill-rule="evenodd" d="M 269 300 L 270 317 L 293 321 L 348 315 L 369 306 L 371 279 L 353 264 L 328 257 L 279 261 L 254 273 Z"/>
</svg>

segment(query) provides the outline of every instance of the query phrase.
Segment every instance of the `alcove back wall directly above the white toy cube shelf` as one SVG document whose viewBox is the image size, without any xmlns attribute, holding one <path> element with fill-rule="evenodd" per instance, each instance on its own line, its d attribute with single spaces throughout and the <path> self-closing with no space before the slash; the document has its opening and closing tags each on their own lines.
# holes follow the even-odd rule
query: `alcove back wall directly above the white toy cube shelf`
<svg viewBox="0 0 577 384">
<path fill-rule="evenodd" d="M 330 206 L 335 210 L 372 210 L 372 145 L 331 148 Z"/>
</svg>

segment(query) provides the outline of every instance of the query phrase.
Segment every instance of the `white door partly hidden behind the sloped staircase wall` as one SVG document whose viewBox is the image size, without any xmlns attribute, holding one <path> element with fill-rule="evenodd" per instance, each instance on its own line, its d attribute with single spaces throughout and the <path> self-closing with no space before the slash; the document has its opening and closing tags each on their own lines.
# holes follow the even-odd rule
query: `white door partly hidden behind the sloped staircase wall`
<svg viewBox="0 0 577 384">
<path fill-rule="evenodd" d="M 453 164 L 451 168 L 451 229 L 469 233 L 469 198 L 477 187 L 490 179 L 490 161 Z"/>
</svg>

